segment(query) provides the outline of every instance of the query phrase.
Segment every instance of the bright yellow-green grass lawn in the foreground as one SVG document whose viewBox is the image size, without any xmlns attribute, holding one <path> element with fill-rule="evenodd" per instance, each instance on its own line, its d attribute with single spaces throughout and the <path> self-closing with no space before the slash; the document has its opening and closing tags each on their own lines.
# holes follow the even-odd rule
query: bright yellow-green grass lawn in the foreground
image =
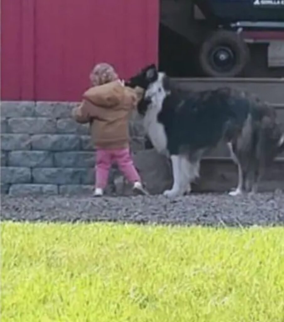
<svg viewBox="0 0 284 322">
<path fill-rule="evenodd" d="M 283 228 L 1 227 L 2 322 L 284 321 Z"/>
</svg>

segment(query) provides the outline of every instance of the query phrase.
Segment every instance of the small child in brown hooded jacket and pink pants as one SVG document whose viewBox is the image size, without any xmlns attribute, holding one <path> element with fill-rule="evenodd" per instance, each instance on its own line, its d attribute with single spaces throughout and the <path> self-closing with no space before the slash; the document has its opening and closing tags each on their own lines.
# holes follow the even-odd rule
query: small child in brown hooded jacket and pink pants
<svg viewBox="0 0 284 322">
<path fill-rule="evenodd" d="M 97 64 L 90 74 L 92 87 L 83 94 L 81 105 L 72 111 L 79 123 L 90 122 L 91 136 L 96 147 L 95 196 L 102 196 L 113 163 L 133 189 L 146 194 L 141 178 L 129 152 L 128 120 L 138 103 L 138 90 L 124 86 L 107 63 Z"/>
</svg>

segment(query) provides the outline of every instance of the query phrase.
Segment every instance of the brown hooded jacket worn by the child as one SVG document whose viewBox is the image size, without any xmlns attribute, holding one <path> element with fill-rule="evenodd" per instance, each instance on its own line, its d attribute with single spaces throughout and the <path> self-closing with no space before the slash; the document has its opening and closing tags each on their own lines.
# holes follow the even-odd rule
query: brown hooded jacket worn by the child
<svg viewBox="0 0 284 322">
<path fill-rule="evenodd" d="M 79 123 L 90 122 L 96 148 L 117 149 L 129 146 L 128 120 L 143 90 L 113 81 L 92 87 L 83 95 L 81 105 L 72 111 Z"/>
</svg>

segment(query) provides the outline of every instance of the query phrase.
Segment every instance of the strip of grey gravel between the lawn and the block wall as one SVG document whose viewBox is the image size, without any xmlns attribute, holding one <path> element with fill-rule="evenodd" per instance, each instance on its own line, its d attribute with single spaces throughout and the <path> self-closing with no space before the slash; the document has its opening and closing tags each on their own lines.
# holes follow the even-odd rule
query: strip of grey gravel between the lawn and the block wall
<svg viewBox="0 0 284 322">
<path fill-rule="evenodd" d="M 284 194 L 191 194 L 168 200 L 163 196 L 103 197 L 2 196 L 2 220 L 202 224 L 221 226 L 283 225 Z"/>
</svg>

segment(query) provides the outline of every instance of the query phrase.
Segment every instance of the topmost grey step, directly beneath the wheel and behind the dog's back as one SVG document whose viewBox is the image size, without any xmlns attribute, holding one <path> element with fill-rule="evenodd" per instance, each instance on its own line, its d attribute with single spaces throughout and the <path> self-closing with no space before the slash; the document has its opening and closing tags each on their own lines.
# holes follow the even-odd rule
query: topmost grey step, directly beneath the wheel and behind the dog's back
<svg viewBox="0 0 284 322">
<path fill-rule="evenodd" d="M 284 78 L 173 78 L 184 90 L 231 87 L 256 94 L 260 99 L 284 105 Z M 282 107 L 283 107 L 282 105 Z"/>
</svg>

